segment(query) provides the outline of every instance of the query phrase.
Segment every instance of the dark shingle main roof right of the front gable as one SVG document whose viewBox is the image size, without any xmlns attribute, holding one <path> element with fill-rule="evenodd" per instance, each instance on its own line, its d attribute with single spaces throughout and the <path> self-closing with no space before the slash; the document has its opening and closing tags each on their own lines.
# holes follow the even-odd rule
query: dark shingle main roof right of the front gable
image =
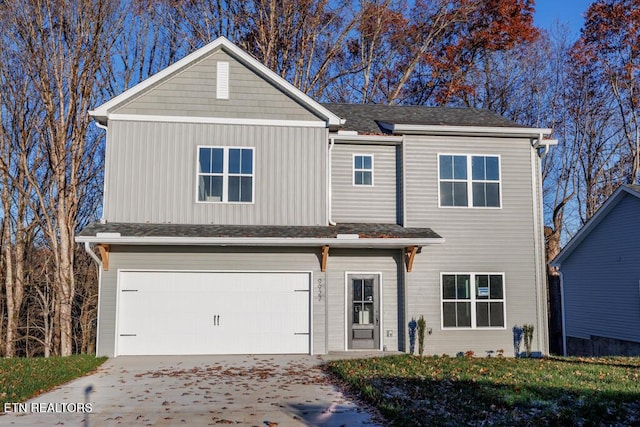
<svg viewBox="0 0 640 427">
<path fill-rule="evenodd" d="M 479 108 L 422 107 L 382 104 L 322 104 L 346 122 L 344 130 L 383 133 L 378 122 L 405 125 L 525 127 Z"/>
</svg>

